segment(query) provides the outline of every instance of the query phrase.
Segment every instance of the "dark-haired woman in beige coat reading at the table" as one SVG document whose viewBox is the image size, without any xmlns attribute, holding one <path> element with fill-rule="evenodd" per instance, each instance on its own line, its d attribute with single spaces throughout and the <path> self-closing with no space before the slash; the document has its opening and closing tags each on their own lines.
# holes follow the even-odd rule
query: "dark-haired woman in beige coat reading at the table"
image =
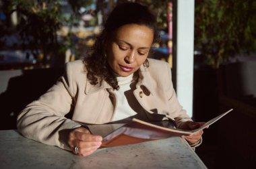
<svg viewBox="0 0 256 169">
<path fill-rule="evenodd" d="M 22 135 L 88 156 L 101 143 L 82 123 L 119 123 L 131 117 L 174 121 L 182 129 L 195 123 L 177 101 L 166 62 L 148 59 L 158 39 L 156 18 L 147 7 L 123 3 L 110 13 L 89 56 L 66 64 L 57 84 L 18 116 Z M 67 119 L 67 113 L 73 113 Z M 203 131 L 186 136 L 191 146 Z"/>
</svg>

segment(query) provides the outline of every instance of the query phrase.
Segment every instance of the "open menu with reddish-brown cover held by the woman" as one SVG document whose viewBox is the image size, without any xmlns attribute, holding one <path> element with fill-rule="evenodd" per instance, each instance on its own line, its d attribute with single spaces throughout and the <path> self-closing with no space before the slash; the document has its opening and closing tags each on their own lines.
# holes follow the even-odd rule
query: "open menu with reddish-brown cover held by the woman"
<svg viewBox="0 0 256 169">
<path fill-rule="evenodd" d="M 160 121 L 158 123 L 149 123 L 139 119 L 133 119 L 131 123 L 123 125 L 112 133 L 106 135 L 102 141 L 102 148 L 121 146 L 127 144 L 136 144 L 150 140 L 164 139 L 172 136 L 190 135 L 201 129 L 205 129 L 224 117 L 232 109 L 218 115 L 214 119 L 207 121 L 204 125 L 194 130 L 177 129 L 170 121 Z"/>
</svg>

